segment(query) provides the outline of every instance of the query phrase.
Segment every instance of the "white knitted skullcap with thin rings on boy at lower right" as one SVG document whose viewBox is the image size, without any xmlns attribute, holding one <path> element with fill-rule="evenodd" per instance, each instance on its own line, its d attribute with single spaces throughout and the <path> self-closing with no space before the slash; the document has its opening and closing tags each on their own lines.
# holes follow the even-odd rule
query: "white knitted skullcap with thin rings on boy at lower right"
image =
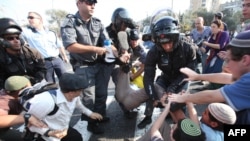
<svg viewBox="0 0 250 141">
<path fill-rule="evenodd" d="M 223 103 L 211 103 L 208 105 L 209 112 L 218 121 L 225 124 L 234 124 L 236 121 L 236 114 L 234 110 Z"/>
</svg>

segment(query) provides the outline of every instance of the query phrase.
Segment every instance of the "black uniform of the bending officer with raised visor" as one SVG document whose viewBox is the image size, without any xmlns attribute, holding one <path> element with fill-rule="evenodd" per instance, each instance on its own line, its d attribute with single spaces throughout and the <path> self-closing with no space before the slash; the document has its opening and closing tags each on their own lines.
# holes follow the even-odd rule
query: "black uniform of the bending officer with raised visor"
<svg viewBox="0 0 250 141">
<path fill-rule="evenodd" d="M 145 61 L 144 88 L 146 93 L 149 94 L 151 100 L 160 98 L 157 97 L 154 87 L 156 66 L 161 70 L 161 75 L 157 77 L 156 83 L 164 88 L 165 92 L 179 93 L 187 87 L 187 82 L 182 83 L 186 76 L 180 72 L 180 68 L 188 67 L 194 70 L 195 64 L 195 48 L 189 42 L 180 39 L 172 52 L 165 52 L 155 44 L 147 53 Z M 171 110 L 175 110 L 175 108 L 177 107 L 171 106 Z M 153 105 L 149 104 L 145 115 L 151 116 L 152 113 Z"/>
</svg>

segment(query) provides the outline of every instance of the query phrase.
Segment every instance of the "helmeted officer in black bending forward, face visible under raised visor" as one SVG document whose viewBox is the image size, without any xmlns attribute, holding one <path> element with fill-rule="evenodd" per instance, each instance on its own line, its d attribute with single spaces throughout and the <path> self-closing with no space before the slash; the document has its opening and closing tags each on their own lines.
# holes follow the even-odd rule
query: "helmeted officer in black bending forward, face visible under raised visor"
<svg viewBox="0 0 250 141">
<path fill-rule="evenodd" d="M 151 25 L 151 35 L 155 45 L 147 53 L 144 68 L 144 88 L 149 95 L 146 102 L 146 117 L 138 124 L 138 128 L 144 128 L 152 122 L 151 116 L 154 105 L 161 99 L 157 96 L 154 87 L 156 66 L 161 71 L 156 79 L 156 83 L 164 88 L 165 93 L 178 93 L 187 86 L 183 82 L 185 75 L 180 72 L 180 68 L 189 67 L 195 69 L 196 52 L 195 48 L 178 31 L 178 21 L 170 16 L 157 19 Z M 166 97 L 164 95 L 163 97 Z M 162 98 L 163 98 L 162 97 Z M 171 111 L 183 105 L 171 104 Z"/>
</svg>

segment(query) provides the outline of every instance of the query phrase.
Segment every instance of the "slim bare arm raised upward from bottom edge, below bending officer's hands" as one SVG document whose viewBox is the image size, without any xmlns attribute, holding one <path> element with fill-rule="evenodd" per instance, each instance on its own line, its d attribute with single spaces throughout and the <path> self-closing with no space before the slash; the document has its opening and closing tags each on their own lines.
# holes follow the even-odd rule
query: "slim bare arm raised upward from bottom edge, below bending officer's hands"
<svg viewBox="0 0 250 141">
<path fill-rule="evenodd" d="M 160 116 L 157 118 L 157 120 L 153 123 L 151 130 L 150 130 L 151 137 L 161 136 L 159 129 L 162 126 L 163 122 L 165 122 L 166 116 L 169 113 L 170 104 L 171 104 L 171 102 L 169 101 L 167 104 L 164 105 L 165 106 L 164 111 L 160 114 Z"/>
</svg>

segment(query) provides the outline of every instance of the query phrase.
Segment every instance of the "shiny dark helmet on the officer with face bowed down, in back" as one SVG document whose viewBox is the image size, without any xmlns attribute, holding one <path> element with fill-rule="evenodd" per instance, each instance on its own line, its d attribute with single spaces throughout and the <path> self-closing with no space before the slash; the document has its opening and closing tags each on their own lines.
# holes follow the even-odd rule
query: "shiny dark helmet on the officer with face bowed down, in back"
<svg viewBox="0 0 250 141">
<path fill-rule="evenodd" d="M 122 23 L 125 23 L 128 28 L 136 28 L 135 22 L 130 17 L 129 12 L 125 8 L 117 8 L 111 18 L 112 24 L 114 24 L 115 30 L 120 31 Z"/>
</svg>

